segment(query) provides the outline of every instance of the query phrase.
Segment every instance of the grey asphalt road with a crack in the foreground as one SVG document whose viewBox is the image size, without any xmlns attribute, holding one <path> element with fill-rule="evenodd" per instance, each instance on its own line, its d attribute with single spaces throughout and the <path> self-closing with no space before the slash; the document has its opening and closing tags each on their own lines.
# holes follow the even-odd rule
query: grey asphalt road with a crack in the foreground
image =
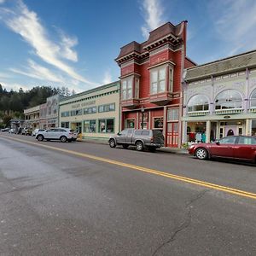
<svg viewBox="0 0 256 256">
<path fill-rule="evenodd" d="M 255 255 L 255 184 L 255 166 L 1 133 L 0 255 Z"/>
</svg>

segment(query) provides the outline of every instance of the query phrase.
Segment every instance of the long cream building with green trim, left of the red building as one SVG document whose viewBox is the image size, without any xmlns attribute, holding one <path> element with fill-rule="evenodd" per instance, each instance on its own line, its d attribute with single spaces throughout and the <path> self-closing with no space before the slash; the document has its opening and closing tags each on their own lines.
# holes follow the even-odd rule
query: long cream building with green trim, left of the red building
<svg viewBox="0 0 256 256">
<path fill-rule="evenodd" d="M 59 126 L 107 139 L 119 132 L 119 81 L 63 99 L 59 112 Z"/>
</svg>

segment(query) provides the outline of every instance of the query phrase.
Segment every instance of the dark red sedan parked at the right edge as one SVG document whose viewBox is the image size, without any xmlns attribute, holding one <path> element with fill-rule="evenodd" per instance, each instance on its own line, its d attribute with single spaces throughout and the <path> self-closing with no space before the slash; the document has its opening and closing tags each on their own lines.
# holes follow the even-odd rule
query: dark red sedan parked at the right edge
<svg viewBox="0 0 256 256">
<path fill-rule="evenodd" d="M 256 162 L 256 137 L 229 136 L 215 143 L 196 143 L 189 147 L 189 154 L 200 160 L 218 157 Z"/>
</svg>

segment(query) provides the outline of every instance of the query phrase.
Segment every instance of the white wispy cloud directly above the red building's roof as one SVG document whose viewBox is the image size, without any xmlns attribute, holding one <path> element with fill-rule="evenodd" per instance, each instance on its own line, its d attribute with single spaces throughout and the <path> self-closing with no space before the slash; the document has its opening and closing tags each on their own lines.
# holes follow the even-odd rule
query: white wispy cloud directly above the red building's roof
<svg viewBox="0 0 256 256">
<path fill-rule="evenodd" d="M 148 38 L 148 32 L 165 22 L 163 20 L 163 8 L 160 0 L 143 0 L 142 7 L 143 17 L 146 22 L 146 24 L 142 26 L 142 32 L 143 37 Z"/>
</svg>

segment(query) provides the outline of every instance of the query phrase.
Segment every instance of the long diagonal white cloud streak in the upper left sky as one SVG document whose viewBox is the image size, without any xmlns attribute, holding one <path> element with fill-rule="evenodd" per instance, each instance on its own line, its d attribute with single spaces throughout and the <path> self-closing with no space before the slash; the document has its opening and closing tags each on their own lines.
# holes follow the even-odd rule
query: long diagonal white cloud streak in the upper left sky
<svg viewBox="0 0 256 256">
<path fill-rule="evenodd" d="M 70 67 L 61 58 L 67 60 L 77 61 L 77 54 L 73 49 L 77 44 L 74 38 L 63 36 L 61 44 L 56 44 L 49 39 L 44 26 L 41 25 L 38 15 L 27 9 L 26 5 L 20 0 L 18 2 L 17 10 L 0 9 L 0 19 L 6 23 L 7 26 L 26 41 L 27 44 L 32 46 L 34 53 L 38 55 L 43 61 L 50 65 L 57 67 L 62 72 L 67 73 L 72 79 L 79 80 L 85 84 L 97 85 L 88 79 L 76 73 L 73 67 Z"/>
</svg>

